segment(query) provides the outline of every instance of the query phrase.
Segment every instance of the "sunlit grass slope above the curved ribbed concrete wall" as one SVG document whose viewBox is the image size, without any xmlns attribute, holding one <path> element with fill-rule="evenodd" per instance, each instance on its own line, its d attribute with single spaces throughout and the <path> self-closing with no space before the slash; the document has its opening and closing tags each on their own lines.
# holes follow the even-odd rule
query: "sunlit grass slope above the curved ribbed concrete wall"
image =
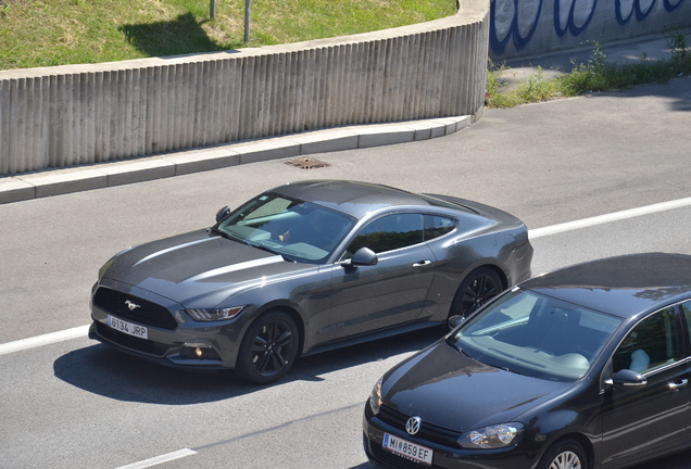
<svg viewBox="0 0 691 469">
<path fill-rule="evenodd" d="M 0 0 L 0 69 L 261 47 L 455 13 L 455 0 Z"/>
</svg>

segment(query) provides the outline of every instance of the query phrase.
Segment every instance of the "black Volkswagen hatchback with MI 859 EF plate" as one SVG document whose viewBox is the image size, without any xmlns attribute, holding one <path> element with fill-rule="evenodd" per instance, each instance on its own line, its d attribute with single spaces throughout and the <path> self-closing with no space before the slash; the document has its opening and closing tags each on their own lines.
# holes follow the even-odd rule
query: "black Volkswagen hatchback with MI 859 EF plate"
<svg viewBox="0 0 691 469">
<path fill-rule="evenodd" d="M 567 267 L 455 320 L 375 385 L 373 462 L 620 468 L 691 446 L 691 256 Z"/>
</svg>

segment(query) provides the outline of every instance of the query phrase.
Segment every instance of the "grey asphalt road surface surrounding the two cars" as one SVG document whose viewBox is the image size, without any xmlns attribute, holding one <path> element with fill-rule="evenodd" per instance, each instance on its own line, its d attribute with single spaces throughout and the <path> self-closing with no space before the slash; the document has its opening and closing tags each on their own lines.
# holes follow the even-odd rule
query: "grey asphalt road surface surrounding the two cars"
<svg viewBox="0 0 691 469">
<path fill-rule="evenodd" d="M 489 110 L 424 141 L 272 161 L 0 205 L 0 344 L 88 324 L 99 266 L 131 244 L 212 224 L 222 205 L 299 179 L 349 178 L 489 203 L 531 230 L 691 197 L 691 80 Z M 533 271 L 606 255 L 691 253 L 691 207 L 533 239 Z M 538 232 L 538 231 L 533 231 Z M 0 355 L 0 468 L 359 468 L 372 385 L 441 330 L 317 355 L 279 384 L 196 375 L 86 338 Z M 181 452 L 181 453 L 180 453 Z M 145 467 L 145 465 L 134 466 Z M 691 454 L 656 464 L 691 467 Z M 642 469 L 638 468 L 638 469 Z"/>
</svg>

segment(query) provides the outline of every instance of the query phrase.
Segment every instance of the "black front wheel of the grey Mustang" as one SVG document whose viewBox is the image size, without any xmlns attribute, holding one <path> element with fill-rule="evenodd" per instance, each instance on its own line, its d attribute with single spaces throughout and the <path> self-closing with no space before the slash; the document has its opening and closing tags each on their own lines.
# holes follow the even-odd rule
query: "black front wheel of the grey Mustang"
<svg viewBox="0 0 691 469">
<path fill-rule="evenodd" d="M 299 346 L 298 327 L 280 310 L 260 316 L 242 339 L 238 371 L 254 384 L 268 384 L 288 372 Z"/>
</svg>

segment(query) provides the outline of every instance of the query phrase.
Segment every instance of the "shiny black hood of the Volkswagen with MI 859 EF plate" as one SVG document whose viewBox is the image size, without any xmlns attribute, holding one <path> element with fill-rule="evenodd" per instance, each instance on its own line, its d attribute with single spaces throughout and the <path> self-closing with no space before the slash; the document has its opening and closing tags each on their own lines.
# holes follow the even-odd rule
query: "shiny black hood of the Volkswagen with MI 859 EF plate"
<svg viewBox="0 0 691 469">
<path fill-rule="evenodd" d="M 442 340 L 392 369 L 381 390 L 389 407 L 464 432 L 516 421 L 573 385 L 485 365 Z"/>
</svg>

